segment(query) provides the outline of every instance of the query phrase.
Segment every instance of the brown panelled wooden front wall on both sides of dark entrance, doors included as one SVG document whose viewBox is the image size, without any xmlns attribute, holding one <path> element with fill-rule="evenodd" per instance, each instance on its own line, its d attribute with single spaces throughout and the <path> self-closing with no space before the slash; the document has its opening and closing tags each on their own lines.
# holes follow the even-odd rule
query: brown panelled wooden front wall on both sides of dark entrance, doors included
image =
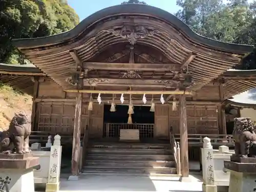
<svg viewBox="0 0 256 192">
<path fill-rule="evenodd" d="M 193 100 L 220 101 L 220 86 L 206 86 L 196 93 Z M 83 94 L 83 100 L 88 101 L 90 95 Z M 34 131 L 73 133 L 74 100 L 76 93 L 65 93 L 52 80 L 39 80 L 37 99 L 48 98 L 48 101 L 37 102 L 35 112 Z M 51 101 L 54 99 L 54 101 Z M 188 134 L 221 134 L 222 120 L 220 106 L 212 104 L 187 104 Z M 91 121 L 89 125 L 89 116 Z M 220 122 L 218 122 L 218 116 Z M 91 115 L 88 103 L 82 104 L 82 127 L 89 125 L 90 137 L 101 138 L 103 133 L 103 104 L 94 104 Z M 179 109 L 172 111 L 172 104 L 156 104 L 155 109 L 155 137 L 168 138 L 168 127 L 173 126 L 175 133 L 179 133 Z M 220 131 L 218 130 L 220 127 Z"/>
</svg>

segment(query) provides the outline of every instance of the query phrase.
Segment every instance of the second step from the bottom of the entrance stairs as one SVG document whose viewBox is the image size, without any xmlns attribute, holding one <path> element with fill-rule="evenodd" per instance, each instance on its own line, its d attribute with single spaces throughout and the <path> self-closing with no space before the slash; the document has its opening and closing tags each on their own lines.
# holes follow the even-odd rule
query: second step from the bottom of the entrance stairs
<svg viewBox="0 0 256 192">
<path fill-rule="evenodd" d="M 140 167 L 140 166 L 164 166 L 164 167 L 175 167 L 175 161 L 134 161 L 134 160 L 87 160 L 86 166 L 107 166 L 107 167 Z"/>
</svg>

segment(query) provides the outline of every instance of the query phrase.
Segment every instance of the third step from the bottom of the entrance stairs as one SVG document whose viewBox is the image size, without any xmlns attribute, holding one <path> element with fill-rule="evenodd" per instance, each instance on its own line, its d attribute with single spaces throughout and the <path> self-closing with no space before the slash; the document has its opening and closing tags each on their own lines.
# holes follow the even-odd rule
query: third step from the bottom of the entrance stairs
<svg viewBox="0 0 256 192">
<path fill-rule="evenodd" d="M 87 160 L 155 160 L 174 161 L 174 155 L 138 155 L 138 154 L 87 154 Z"/>
</svg>

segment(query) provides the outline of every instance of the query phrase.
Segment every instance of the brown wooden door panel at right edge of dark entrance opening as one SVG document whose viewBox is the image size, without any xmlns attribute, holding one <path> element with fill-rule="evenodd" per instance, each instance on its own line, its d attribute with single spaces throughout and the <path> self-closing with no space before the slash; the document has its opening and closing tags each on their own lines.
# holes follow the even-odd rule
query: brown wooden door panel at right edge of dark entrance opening
<svg viewBox="0 0 256 192">
<path fill-rule="evenodd" d="M 156 104 L 155 106 L 155 129 L 154 137 L 168 139 L 169 123 L 168 123 L 168 104 Z"/>
</svg>

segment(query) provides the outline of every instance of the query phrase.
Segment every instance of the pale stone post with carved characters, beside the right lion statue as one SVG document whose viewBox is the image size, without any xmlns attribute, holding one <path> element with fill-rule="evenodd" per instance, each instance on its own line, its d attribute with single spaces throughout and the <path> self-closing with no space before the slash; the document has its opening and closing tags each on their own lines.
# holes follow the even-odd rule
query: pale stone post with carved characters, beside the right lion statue
<svg viewBox="0 0 256 192">
<path fill-rule="evenodd" d="M 203 139 L 204 145 L 201 148 L 202 169 L 203 169 L 203 191 L 217 192 L 214 178 L 214 150 L 210 143 L 210 139 L 205 137 Z"/>
</svg>

